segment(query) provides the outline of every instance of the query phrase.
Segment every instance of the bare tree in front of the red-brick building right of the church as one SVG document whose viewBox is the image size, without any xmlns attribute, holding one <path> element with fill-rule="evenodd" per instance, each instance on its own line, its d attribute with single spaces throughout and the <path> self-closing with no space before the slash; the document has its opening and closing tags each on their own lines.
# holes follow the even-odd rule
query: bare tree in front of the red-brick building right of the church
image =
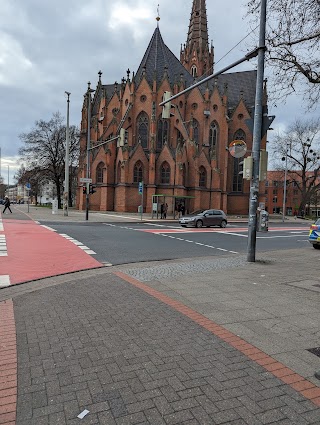
<svg viewBox="0 0 320 425">
<path fill-rule="evenodd" d="M 287 157 L 287 184 L 300 192 L 299 212 L 305 212 L 320 183 L 320 120 L 296 120 L 283 134 L 271 142 L 273 162 L 278 170 L 285 168 Z"/>
</svg>

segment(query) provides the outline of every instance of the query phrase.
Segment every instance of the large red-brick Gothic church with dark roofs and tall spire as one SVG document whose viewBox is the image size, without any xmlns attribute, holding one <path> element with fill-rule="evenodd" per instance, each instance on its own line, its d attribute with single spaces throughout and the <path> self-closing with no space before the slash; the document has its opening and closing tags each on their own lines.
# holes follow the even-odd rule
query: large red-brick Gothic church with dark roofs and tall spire
<svg viewBox="0 0 320 425">
<path fill-rule="evenodd" d="M 175 99 L 173 116 L 163 119 L 159 103 L 164 92 L 179 93 L 197 78 L 213 74 L 214 48 L 208 42 L 205 0 L 193 0 L 180 60 L 164 43 L 159 20 L 138 70 L 128 69 L 119 84 L 103 84 L 99 72 L 94 94 L 88 90 L 84 97 L 79 179 L 88 174 L 96 185 L 90 209 L 137 212 L 143 205 L 150 213 L 155 202 L 165 200 L 169 215 L 177 202 L 186 211 L 217 208 L 247 214 L 249 182 L 239 174 L 242 159 L 232 157 L 227 147 L 244 140 L 251 150 L 246 120 L 253 115 L 256 71 L 207 81 Z M 110 142 L 102 144 L 106 140 Z M 265 143 L 264 138 L 264 149 Z M 79 180 L 79 209 L 85 209 L 85 198 Z"/>
</svg>

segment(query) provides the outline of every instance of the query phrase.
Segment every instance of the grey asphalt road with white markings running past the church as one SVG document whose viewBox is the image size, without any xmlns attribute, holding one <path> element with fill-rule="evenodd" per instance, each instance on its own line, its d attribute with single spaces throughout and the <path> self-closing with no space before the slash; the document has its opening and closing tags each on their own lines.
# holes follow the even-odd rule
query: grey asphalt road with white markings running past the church
<svg viewBox="0 0 320 425">
<path fill-rule="evenodd" d="M 96 260 L 112 265 L 247 252 L 246 223 L 228 224 L 226 229 L 184 229 L 175 223 L 163 222 L 46 221 L 42 224 L 83 243 L 96 253 L 93 254 Z M 257 233 L 257 252 L 308 245 L 308 226 L 298 223 L 271 223 L 268 232 Z"/>
</svg>

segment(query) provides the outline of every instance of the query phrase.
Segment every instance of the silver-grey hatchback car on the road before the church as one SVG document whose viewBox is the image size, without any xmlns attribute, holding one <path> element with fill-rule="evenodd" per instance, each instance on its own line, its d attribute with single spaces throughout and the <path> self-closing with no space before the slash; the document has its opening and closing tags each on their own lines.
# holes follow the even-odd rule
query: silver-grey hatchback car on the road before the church
<svg viewBox="0 0 320 425">
<path fill-rule="evenodd" d="M 199 210 L 189 215 L 184 215 L 179 219 L 182 227 L 226 227 L 228 223 L 227 216 L 221 210 Z"/>
</svg>

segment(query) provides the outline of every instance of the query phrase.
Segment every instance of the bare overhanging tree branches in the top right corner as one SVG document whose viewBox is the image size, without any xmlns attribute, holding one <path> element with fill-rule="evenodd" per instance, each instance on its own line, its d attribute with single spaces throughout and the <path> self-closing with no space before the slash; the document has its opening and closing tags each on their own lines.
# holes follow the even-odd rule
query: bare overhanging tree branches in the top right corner
<svg viewBox="0 0 320 425">
<path fill-rule="evenodd" d="M 248 3 L 254 17 L 259 3 Z M 298 92 L 314 107 L 320 99 L 320 0 L 269 0 L 266 44 L 274 76 L 270 93 L 281 98 Z"/>
</svg>

